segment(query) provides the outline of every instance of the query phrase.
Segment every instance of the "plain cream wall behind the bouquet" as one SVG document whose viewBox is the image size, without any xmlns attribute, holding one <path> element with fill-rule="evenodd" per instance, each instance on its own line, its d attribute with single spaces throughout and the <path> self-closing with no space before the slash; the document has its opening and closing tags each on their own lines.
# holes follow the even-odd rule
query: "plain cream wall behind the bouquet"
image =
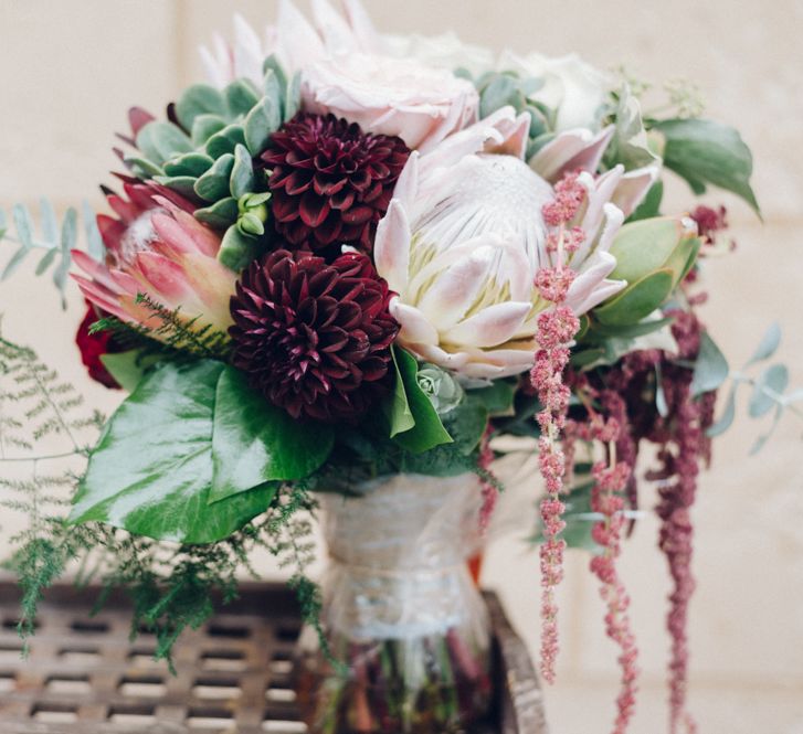
<svg viewBox="0 0 803 734">
<path fill-rule="evenodd" d="M 115 167 L 112 132 L 125 110 L 159 110 L 200 76 L 197 45 L 214 29 L 228 32 L 239 10 L 262 24 L 272 0 L 0 0 L 0 206 L 35 203 L 40 194 L 65 206 L 88 196 Z M 715 298 L 706 317 L 736 364 L 763 329 L 779 320 L 783 357 L 803 385 L 803 2 L 727 0 L 367 0 L 380 29 L 436 33 L 498 50 L 579 51 L 609 67 L 624 62 L 657 83 L 699 83 L 708 114 L 738 125 L 756 155 L 756 189 L 765 223 L 727 196 L 738 253 L 711 262 Z M 673 192 L 678 206 L 689 198 Z M 8 258 L 0 252 L 0 265 Z M 73 347 L 80 301 L 66 312 L 33 267 L 0 285 L 2 328 L 34 347 L 103 409 L 116 394 L 91 384 Z M 743 405 L 741 407 L 744 407 Z M 743 412 L 742 412 L 743 413 Z M 699 589 L 693 604 L 691 705 L 705 734 L 803 733 L 803 474 L 801 425 L 790 417 L 754 458 L 763 426 L 743 418 L 719 442 L 695 511 Z M 652 504 L 647 498 L 645 507 Z M 2 518 L 2 536 L 19 520 Z M 644 669 L 633 731 L 664 730 L 663 632 L 668 589 L 655 550 L 657 525 L 640 523 L 623 557 Z M 615 649 L 604 638 L 603 608 L 572 554 L 561 592 L 561 676 L 547 693 L 556 734 L 603 732 L 612 720 Z M 537 559 L 518 538 L 497 544 L 485 581 L 506 598 L 519 629 L 537 645 Z"/>
</svg>

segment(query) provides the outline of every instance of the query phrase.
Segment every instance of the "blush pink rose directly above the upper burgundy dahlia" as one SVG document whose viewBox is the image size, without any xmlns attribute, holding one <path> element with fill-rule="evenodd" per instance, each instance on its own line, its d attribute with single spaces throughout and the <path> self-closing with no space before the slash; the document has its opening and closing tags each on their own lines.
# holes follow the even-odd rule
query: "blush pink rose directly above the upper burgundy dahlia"
<svg viewBox="0 0 803 734">
<path fill-rule="evenodd" d="M 477 118 L 474 85 L 445 68 L 372 54 L 337 55 L 303 72 L 310 113 L 331 113 L 366 132 L 397 135 L 426 151 Z"/>
</svg>

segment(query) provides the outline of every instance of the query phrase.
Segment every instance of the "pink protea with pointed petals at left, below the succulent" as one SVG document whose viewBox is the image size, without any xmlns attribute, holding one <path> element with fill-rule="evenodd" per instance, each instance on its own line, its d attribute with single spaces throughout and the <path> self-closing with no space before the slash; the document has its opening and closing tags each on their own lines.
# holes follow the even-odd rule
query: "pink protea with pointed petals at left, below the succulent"
<svg viewBox="0 0 803 734">
<path fill-rule="evenodd" d="M 119 219 L 97 220 L 105 262 L 73 251 L 75 264 L 89 276 L 73 275 L 84 296 L 127 323 L 160 326 L 152 308 L 139 302 L 145 295 L 166 309 L 179 309 L 193 328 L 225 331 L 232 323 L 229 299 L 236 274 L 216 259 L 220 237 L 175 193 L 133 181 L 124 189 L 128 200 L 108 196 Z"/>
</svg>

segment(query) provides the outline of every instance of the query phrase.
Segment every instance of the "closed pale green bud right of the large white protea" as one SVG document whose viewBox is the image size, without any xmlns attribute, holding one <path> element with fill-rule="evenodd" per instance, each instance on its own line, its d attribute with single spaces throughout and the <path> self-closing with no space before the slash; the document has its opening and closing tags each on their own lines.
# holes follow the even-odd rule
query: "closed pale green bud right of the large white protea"
<svg viewBox="0 0 803 734">
<path fill-rule="evenodd" d="M 626 327 L 649 316 L 691 269 L 700 244 L 679 219 L 625 224 L 611 245 L 616 268 L 610 277 L 626 280 L 627 287 L 594 309 L 594 319 L 606 327 Z"/>
</svg>

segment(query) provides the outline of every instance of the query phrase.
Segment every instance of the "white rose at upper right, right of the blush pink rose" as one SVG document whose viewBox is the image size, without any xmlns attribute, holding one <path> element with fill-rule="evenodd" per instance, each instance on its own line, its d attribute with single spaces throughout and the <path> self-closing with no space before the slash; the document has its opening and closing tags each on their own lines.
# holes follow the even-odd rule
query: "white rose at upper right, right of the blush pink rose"
<svg viewBox="0 0 803 734">
<path fill-rule="evenodd" d="M 531 96 L 557 110 L 558 131 L 599 127 L 599 110 L 612 81 L 577 54 L 549 57 L 532 53 L 522 57 L 506 51 L 499 58 L 498 68 L 543 81 L 543 86 Z"/>
</svg>

